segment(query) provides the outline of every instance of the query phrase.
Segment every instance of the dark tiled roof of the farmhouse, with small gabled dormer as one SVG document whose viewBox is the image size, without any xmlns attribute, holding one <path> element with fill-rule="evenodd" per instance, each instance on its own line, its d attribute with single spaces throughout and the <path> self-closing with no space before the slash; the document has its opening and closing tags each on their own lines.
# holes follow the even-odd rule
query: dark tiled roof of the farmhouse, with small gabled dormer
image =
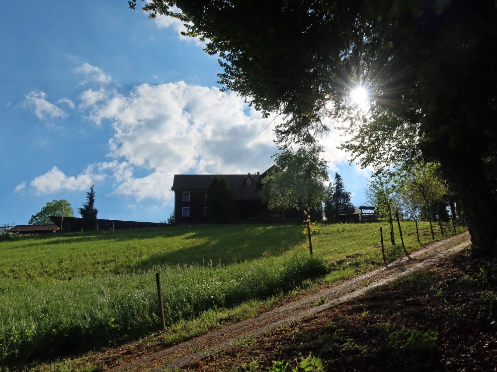
<svg viewBox="0 0 497 372">
<path fill-rule="evenodd" d="M 260 187 L 258 182 L 262 175 L 250 175 L 253 177 L 252 185 L 247 186 L 245 179 L 248 175 L 174 175 L 171 190 L 173 191 L 195 191 L 205 190 L 209 182 L 215 177 L 224 177 L 228 182 L 233 200 L 257 200 L 260 199 Z"/>
</svg>

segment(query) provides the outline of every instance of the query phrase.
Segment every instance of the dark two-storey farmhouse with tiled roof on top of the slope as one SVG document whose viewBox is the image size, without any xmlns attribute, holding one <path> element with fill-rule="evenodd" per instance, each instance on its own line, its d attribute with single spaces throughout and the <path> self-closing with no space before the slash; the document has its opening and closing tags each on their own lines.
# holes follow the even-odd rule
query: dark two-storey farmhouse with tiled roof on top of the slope
<svg viewBox="0 0 497 372">
<path fill-rule="evenodd" d="M 272 167 L 271 167 L 272 168 Z M 261 220 L 266 205 L 262 202 L 261 180 L 267 172 L 246 175 L 174 175 L 171 190 L 174 191 L 174 221 L 176 224 L 209 222 L 205 190 L 215 176 L 224 177 L 231 193 L 235 221 Z"/>
</svg>

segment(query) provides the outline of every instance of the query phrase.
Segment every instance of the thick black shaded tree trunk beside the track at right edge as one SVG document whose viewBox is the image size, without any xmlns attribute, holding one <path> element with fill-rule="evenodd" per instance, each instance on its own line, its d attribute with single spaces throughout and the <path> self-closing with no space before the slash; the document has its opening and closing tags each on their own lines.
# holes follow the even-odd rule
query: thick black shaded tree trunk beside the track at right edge
<svg viewBox="0 0 497 372">
<path fill-rule="evenodd" d="M 476 255 L 497 251 L 497 200 L 480 159 L 467 156 L 442 164 L 465 211 Z"/>
</svg>

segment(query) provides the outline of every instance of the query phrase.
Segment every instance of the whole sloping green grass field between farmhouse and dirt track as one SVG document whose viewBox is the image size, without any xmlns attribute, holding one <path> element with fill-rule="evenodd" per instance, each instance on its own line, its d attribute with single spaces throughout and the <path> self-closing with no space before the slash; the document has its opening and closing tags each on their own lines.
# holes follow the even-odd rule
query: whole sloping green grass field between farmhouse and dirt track
<svg viewBox="0 0 497 372">
<path fill-rule="evenodd" d="M 157 329 L 155 272 L 162 275 L 166 323 L 177 333 L 167 340 L 177 342 L 194 333 L 181 326 L 185 321 L 195 319 L 205 330 L 215 326 L 217 313 L 237 313 L 247 302 L 382 264 L 380 226 L 388 236 L 388 224 L 321 225 L 312 257 L 299 225 L 169 227 L 0 241 L 0 365 L 20 366 Z M 419 248 L 414 223 L 402 226 L 408 249 Z M 429 226 L 419 228 L 421 242 L 429 241 Z M 385 247 L 389 260 L 403 253 L 387 238 Z"/>
</svg>

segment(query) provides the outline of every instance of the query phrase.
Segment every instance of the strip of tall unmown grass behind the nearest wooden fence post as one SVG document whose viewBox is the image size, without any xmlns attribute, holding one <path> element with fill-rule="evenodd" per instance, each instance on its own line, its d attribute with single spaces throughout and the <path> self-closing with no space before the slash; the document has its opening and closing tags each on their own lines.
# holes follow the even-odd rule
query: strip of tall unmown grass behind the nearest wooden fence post
<svg viewBox="0 0 497 372">
<path fill-rule="evenodd" d="M 287 291 L 306 277 L 322 275 L 318 257 L 290 252 L 236 265 L 158 266 L 144 273 L 71 281 L 0 284 L 2 363 L 64 354 L 101 345 L 115 335 L 157 326 L 154 272 L 162 273 L 166 323 L 211 308 Z"/>
</svg>

